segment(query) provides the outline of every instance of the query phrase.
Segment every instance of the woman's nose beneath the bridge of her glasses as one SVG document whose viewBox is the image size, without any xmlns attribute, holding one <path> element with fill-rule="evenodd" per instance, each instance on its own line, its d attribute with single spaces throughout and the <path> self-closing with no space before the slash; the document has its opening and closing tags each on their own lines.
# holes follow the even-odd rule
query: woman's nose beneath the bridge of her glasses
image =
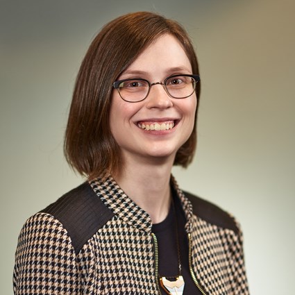
<svg viewBox="0 0 295 295">
<path fill-rule="evenodd" d="M 151 84 L 149 96 L 146 98 L 147 108 L 171 108 L 173 103 L 161 82 Z"/>
</svg>

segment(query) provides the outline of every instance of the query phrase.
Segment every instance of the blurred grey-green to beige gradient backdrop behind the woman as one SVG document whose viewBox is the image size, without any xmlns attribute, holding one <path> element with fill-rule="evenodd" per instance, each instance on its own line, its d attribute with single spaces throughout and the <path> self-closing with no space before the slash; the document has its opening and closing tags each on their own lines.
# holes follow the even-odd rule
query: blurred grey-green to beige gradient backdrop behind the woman
<svg viewBox="0 0 295 295">
<path fill-rule="evenodd" d="M 251 294 L 295 294 L 293 0 L 0 1 L 1 294 L 26 218 L 83 181 L 62 140 L 85 51 L 138 10 L 182 23 L 199 56 L 199 145 L 180 187 L 241 222 Z"/>
</svg>

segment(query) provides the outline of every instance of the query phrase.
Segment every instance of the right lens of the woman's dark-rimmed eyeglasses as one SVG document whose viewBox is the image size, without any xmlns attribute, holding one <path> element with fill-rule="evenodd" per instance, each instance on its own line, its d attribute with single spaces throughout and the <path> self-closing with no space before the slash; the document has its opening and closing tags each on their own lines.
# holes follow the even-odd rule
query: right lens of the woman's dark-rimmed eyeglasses
<svg viewBox="0 0 295 295">
<path fill-rule="evenodd" d="M 196 80 L 191 76 L 172 76 L 165 82 L 167 92 L 176 99 L 191 96 L 196 88 Z"/>
</svg>

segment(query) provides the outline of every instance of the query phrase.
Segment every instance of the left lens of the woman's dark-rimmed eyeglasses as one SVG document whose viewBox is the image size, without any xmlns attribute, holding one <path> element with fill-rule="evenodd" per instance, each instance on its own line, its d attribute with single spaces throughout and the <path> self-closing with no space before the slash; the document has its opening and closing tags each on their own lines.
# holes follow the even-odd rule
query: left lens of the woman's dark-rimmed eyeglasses
<svg viewBox="0 0 295 295">
<path fill-rule="evenodd" d="M 118 89 L 125 101 L 142 101 L 149 93 L 149 83 L 141 79 L 130 79 L 121 82 Z"/>
</svg>

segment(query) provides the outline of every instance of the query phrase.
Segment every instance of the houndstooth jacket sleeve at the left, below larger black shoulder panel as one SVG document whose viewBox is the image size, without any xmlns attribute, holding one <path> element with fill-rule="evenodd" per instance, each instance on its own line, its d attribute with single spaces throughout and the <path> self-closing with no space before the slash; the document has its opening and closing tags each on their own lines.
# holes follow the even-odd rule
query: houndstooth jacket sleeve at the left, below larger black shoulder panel
<svg viewBox="0 0 295 295">
<path fill-rule="evenodd" d="M 13 289 L 15 295 L 81 293 L 71 239 L 50 214 L 37 213 L 22 228 L 15 254 Z"/>
</svg>

